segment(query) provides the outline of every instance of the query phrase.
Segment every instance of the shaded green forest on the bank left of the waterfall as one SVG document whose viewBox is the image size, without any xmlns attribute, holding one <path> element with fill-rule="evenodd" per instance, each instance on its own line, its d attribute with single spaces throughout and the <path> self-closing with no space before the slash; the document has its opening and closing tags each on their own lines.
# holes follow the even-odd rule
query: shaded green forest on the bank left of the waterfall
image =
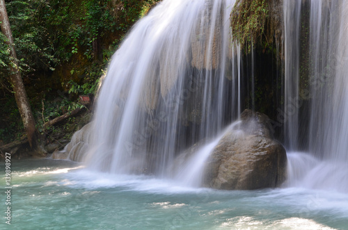
<svg viewBox="0 0 348 230">
<path fill-rule="evenodd" d="M 5 1 L 19 67 L 37 129 L 81 108 L 79 95 L 93 94 L 112 54 L 129 28 L 159 0 Z M 0 146 L 24 135 L 9 81 L 10 58 L 0 32 Z M 71 138 L 76 129 L 65 124 Z M 54 127 L 50 133 L 54 133 Z"/>
</svg>

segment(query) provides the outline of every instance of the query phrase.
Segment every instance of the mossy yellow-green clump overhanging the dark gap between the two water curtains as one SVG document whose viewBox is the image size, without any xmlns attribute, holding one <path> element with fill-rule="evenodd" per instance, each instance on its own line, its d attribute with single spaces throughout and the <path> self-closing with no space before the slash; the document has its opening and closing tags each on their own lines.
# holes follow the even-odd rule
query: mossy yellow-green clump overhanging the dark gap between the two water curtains
<svg viewBox="0 0 348 230">
<path fill-rule="evenodd" d="M 237 0 L 230 15 L 232 38 L 243 47 L 260 38 L 264 33 L 264 24 L 268 17 L 268 4 L 265 0 Z"/>
</svg>

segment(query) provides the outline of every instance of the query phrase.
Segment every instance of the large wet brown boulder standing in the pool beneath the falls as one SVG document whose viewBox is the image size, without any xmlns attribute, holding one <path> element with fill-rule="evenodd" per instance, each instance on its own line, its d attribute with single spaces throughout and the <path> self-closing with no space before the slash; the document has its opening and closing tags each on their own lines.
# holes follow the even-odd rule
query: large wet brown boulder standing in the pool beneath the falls
<svg viewBox="0 0 348 230">
<path fill-rule="evenodd" d="M 205 165 L 205 186 L 225 190 L 274 188 L 285 181 L 286 152 L 274 140 L 269 118 L 245 110 Z"/>
</svg>

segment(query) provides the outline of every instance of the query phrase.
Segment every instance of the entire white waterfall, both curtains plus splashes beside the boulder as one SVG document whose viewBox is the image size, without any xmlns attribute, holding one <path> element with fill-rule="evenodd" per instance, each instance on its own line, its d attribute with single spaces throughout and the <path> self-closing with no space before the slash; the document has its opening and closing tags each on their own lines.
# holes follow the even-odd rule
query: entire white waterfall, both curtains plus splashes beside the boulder
<svg viewBox="0 0 348 230">
<path fill-rule="evenodd" d="M 88 128 L 88 168 L 168 176 L 177 156 L 208 143 L 179 164 L 178 177 L 190 176 L 177 180 L 198 186 L 217 137 L 237 120 L 246 100 L 257 107 L 260 56 L 255 48 L 251 65 L 244 65 L 248 55 L 232 43 L 234 5 L 235 0 L 164 0 L 134 25 L 102 81 Z M 284 51 L 283 92 L 276 99 L 283 108 L 274 110 L 290 153 L 287 186 L 348 192 L 342 183 L 348 179 L 345 10 L 343 0 L 283 1 L 283 47 L 276 48 Z"/>
</svg>

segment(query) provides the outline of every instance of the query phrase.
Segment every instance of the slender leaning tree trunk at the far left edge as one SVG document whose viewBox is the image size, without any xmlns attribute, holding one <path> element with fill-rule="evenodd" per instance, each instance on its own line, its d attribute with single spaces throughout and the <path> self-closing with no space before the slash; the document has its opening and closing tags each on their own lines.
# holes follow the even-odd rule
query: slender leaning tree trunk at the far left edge
<svg viewBox="0 0 348 230">
<path fill-rule="evenodd" d="M 31 108 L 29 105 L 28 97 L 26 96 L 26 91 L 24 88 L 24 83 L 22 80 L 21 72 L 18 66 L 17 55 L 15 52 L 15 47 L 13 44 L 13 37 L 10 28 L 10 22 L 8 21 L 8 15 L 6 11 L 6 5 L 4 0 L 0 0 L 0 22 L 1 22 L 1 31 L 8 38 L 6 42 L 10 47 L 10 56 L 13 59 L 10 66 L 10 82 L 13 85 L 13 91 L 15 92 L 15 99 L 17 106 L 19 108 L 19 113 L 22 117 L 24 124 L 24 129 L 26 135 L 28 136 L 29 145 L 32 149 L 35 149 L 37 146 L 37 136 L 35 128 L 35 120 L 33 113 L 31 113 Z"/>
</svg>

